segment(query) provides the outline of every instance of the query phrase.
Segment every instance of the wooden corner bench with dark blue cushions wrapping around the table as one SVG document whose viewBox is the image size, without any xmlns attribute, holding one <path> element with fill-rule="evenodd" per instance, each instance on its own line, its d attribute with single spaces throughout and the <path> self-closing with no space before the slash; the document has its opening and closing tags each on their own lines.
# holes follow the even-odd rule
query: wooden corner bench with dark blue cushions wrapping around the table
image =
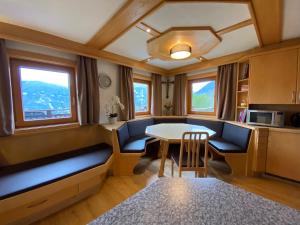
<svg viewBox="0 0 300 225">
<path fill-rule="evenodd" d="M 133 168 L 139 158 L 145 154 L 147 145 L 152 141 L 157 141 L 145 135 L 146 127 L 159 123 L 188 123 L 214 130 L 216 135 L 209 140 L 210 152 L 223 156 L 233 174 L 246 175 L 251 129 L 223 121 L 185 117 L 137 119 L 128 121 L 115 130 L 116 175 L 133 174 Z M 173 146 L 170 148 L 170 151 L 177 149 Z"/>
</svg>

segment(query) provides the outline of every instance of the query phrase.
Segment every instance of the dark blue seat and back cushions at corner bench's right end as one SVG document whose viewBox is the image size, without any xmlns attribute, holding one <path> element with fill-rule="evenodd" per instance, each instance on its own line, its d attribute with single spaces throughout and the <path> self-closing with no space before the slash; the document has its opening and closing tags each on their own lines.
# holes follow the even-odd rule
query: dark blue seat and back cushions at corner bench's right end
<svg viewBox="0 0 300 225">
<path fill-rule="evenodd" d="M 222 136 L 211 139 L 208 143 L 223 153 L 245 153 L 248 149 L 251 129 L 224 123 Z"/>
</svg>

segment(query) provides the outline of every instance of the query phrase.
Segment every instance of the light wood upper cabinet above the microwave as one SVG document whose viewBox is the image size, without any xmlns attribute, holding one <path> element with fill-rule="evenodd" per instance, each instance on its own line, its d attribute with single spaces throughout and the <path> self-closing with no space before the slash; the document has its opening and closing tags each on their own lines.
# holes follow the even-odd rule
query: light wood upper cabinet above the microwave
<svg viewBox="0 0 300 225">
<path fill-rule="evenodd" d="M 250 58 L 250 104 L 296 103 L 298 52 L 291 49 Z"/>
</svg>

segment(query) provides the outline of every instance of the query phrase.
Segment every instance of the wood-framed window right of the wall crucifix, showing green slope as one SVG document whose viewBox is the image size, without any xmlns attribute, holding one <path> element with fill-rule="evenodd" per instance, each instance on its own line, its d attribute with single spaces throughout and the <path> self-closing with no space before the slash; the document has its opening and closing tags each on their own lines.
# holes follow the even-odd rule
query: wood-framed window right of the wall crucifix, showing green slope
<svg viewBox="0 0 300 225">
<path fill-rule="evenodd" d="M 189 80 L 188 113 L 215 115 L 216 108 L 215 77 Z"/>
</svg>

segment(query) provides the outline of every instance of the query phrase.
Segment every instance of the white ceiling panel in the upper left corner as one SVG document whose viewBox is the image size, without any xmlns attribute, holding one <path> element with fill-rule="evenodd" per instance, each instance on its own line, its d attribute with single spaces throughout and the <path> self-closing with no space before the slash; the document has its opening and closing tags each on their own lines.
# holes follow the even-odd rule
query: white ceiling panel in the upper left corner
<svg viewBox="0 0 300 225">
<path fill-rule="evenodd" d="M 126 0 L 0 1 L 0 21 L 86 43 Z"/>
</svg>

